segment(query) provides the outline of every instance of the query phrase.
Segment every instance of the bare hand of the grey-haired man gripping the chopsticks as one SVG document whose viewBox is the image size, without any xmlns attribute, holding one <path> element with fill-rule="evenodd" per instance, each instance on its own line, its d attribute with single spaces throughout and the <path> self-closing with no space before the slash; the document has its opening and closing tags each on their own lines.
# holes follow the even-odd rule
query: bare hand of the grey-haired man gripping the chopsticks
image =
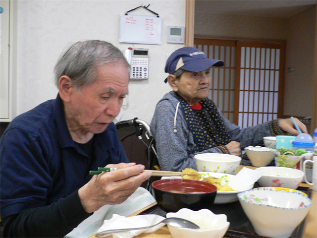
<svg viewBox="0 0 317 238">
<path fill-rule="evenodd" d="M 143 172 L 144 165 L 120 163 L 107 165 L 118 168 L 94 177 L 78 190 L 80 201 L 87 213 L 97 211 L 106 204 L 124 202 L 147 179 L 151 172 Z"/>
</svg>

